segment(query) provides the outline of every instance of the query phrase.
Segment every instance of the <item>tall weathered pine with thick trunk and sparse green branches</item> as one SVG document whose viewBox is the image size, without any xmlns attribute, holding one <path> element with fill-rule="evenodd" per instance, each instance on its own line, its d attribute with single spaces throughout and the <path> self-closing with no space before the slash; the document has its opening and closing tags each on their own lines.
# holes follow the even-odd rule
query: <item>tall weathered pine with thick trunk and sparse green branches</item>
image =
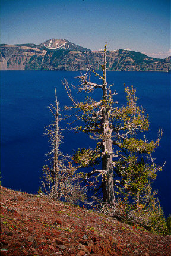
<svg viewBox="0 0 171 256">
<path fill-rule="evenodd" d="M 79 124 L 73 127 L 72 123 L 71 129 L 75 132 L 87 133 L 90 138 L 97 141 L 95 149 L 78 149 L 73 160 L 80 167 L 96 166 L 102 161 L 102 168 L 93 168 L 84 175 L 84 178 L 88 180 L 91 176 L 102 177 L 96 191 L 102 189 L 103 202 L 111 204 L 115 202 L 116 195 L 123 197 L 125 193 L 126 197 L 129 195 L 136 197 L 135 201 L 140 203 L 141 192 L 145 193 L 147 185 L 150 186 L 151 181 L 155 179 L 156 172 L 162 170 L 161 166 L 156 166 L 151 156 L 154 149 L 159 146 L 162 135 L 159 133 L 156 142 L 148 142 L 145 136 L 144 140 L 136 138 L 137 132 L 148 130 L 149 122 L 145 110 L 137 105 L 138 98 L 135 96 L 133 86 L 126 88 L 124 85 L 126 107 L 116 107 L 118 102 L 113 100 L 116 92 L 112 92 L 112 85 L 106 82 L 106 46 L 107 43 L 105 43 L 104 61 L 100 64 L 102 76 L 92 71 L 95 77 L 102 80 L 102 84 L 90 81 L 91 72 L 88 68 L 85 74 L 81 73 L 78 76 L 79 85 L 74 86 L 78 92 L 90 93 L 94 89 L 101 90 L 102 99 L 99 102 L 90 97 L 87 97 L 85 102 L 75 101 L 68 82 L 66 80 L 63 82 L 72 101 L 72 106 L 68 109 L 76 110 L 73 123 L 80 120 L 84 122 L 84 127 Z M 119 177 L 118 184 L 116 176 Z"/>
</svg>

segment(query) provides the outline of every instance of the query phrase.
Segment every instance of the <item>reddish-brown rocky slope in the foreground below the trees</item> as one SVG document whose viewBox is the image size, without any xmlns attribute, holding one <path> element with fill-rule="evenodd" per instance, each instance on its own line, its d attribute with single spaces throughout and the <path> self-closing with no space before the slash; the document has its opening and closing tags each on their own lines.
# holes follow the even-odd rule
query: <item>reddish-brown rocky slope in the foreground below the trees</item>
<svg viewBox="0 0 171 256">
<path fill-rule="evenodd" d="M 171 236 L 1 186 L 1 256 L 170 256 Z"/>
</svg>

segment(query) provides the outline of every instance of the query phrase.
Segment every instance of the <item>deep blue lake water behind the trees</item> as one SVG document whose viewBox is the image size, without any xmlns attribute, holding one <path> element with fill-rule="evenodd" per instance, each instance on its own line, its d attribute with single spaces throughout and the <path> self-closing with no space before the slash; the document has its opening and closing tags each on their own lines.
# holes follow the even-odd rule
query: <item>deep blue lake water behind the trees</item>
<svg viewBox="0 0 171 256">
<path fill-rule="evenodd" d="M 53 121 L 47 106 L 55 100 L 57 90 L 60 107 L 70 105 L 61 80 L 75 83 L 79 72 L 72 71 L 1 71 L 1 176 L 2 186 L 36 193 L 39 190 L 45 154 L 49 151 L 44 127 Z M 163 164 L 163 172 L 157 175 L 153 188 L 159 191 L 159 199 L 166 216 L 171 213 L 170 204 L 170 74 L 157 72 L 107 72 L 107 82 L 114 83 L 116 100 L 125 103 L 123 83 L 137 89 L 138 103 L 150 115 L 150 131 L 147 138 L 157 138 L 163 129 L 160 147 L 155 157 Z M 100 97 L 100 91 L 94 97 Z M 75 95 L 81 98 L 81 95 Z M 62 124 L 64 126 L 64 124 Z M 72 154 L 78 147 L 91 146 L 87 135 L 64 131 L 61 151 Z"/>
</svg>

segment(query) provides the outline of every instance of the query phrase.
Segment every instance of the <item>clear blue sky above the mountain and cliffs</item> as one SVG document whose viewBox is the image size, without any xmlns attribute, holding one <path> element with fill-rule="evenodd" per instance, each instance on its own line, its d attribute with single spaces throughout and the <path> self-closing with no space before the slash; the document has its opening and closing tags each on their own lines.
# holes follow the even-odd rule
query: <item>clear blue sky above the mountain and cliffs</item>
<svg viewBox="0 0 171 256">
<path fill-rule="evenodd" d="M 170 0 L 1 0 L 1 43 L 64 38 L 99 50 L 168 57 Z M 157 54 L 157 55 L 156 55 Z"/>
</svg>

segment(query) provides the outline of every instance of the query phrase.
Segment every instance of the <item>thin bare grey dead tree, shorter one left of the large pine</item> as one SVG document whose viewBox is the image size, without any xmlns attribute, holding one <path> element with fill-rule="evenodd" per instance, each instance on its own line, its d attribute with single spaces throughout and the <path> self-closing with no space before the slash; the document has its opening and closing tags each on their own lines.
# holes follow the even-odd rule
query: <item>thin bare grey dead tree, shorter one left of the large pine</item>
<svg viewBox="0 0 171 256">
<path fill-rule="evenodd" d="M 59 150 L 62 143 L 62 129 L 59 122 L 62 120 L 59 114 L 59 103 L 55 89 L 55 106 L 50 104 L 50 112 L 55 119 L 53 124 L 46 127 L 45 135 L 49 136 L 51 151 L 49 156 L 50 167 L 43 167 L 43 191 L 50 198 L 77 203 L 85 200 L 85 188 L 81 186 L 80 175 L 77 174 L 77 167 L 72 166 L 71 158 Z"/>
</svg>

